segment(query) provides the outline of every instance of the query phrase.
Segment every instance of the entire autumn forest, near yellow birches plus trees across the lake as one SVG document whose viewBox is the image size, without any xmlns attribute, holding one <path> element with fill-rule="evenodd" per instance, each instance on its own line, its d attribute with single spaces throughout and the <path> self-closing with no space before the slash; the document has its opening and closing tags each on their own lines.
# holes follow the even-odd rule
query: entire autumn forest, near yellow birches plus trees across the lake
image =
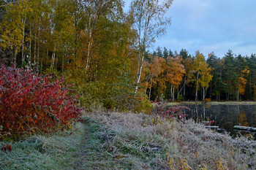
<svg viewBox="0 0 256 170">
<path fill-rule="evenodd" d="M 0 1 L 0 63 L 64 76 L 86 107 L 256 100 L 255 54 L 147 52 L 170 26 L 171 4 L 134 0 L 124 12 L 121 0 Z"/>
</svg>

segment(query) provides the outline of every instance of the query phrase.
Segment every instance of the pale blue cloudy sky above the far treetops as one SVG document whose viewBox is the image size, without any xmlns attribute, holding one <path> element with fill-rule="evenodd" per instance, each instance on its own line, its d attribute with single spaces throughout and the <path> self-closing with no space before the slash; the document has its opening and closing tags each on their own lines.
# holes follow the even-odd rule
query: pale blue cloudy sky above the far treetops
<svg viewBox="0 0 256 170">
<path fill-rule="evenodd" d="M 255 7 L 255 0 L 173 0 L 166 15 L 171 25 L 150 50 L 186 49 L 192 55 L 199 50 L 219 58 L 228 50 L 236 55 L 256 53 Z"/>
</svg>

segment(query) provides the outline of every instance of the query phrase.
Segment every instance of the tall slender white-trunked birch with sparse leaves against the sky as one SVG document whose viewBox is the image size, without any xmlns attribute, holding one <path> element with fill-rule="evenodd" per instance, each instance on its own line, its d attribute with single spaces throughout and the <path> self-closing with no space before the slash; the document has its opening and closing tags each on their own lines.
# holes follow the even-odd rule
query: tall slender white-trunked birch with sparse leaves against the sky
<svg viewBox="0 0 256 170">
<path fill-rule="evenodd" d="M 133 17 L 133 27 L 137 31 L 138 39 L 136 47 L 138 49 L 138 71 L 136 78 L 135 94 L 140 83 L 141 71 L 145 51 L 155 41 L 155 39 L 165 33 L 165 28 L 170 25 L 170 18 L 164 15 L 170 8 L 172 0 L 134 0 L 130 7 Z"/>
</svg>

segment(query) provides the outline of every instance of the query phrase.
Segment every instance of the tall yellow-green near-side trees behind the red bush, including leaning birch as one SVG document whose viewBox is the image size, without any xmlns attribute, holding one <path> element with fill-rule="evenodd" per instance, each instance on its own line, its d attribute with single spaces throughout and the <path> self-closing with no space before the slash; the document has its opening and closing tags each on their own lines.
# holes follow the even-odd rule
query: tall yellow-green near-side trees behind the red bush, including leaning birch
<svg viewBox="0 0 256 170">
<path fill-rule="evenodd" d="M 118 98 L 145 101 L 145 52 L 170 25 L 165 13 L 172 0 L 133 0 L 128 12 L 124 3 L 1 0 L 0 62 L 64 76 L 86 107 L 124 108 Z"/>
</svg>

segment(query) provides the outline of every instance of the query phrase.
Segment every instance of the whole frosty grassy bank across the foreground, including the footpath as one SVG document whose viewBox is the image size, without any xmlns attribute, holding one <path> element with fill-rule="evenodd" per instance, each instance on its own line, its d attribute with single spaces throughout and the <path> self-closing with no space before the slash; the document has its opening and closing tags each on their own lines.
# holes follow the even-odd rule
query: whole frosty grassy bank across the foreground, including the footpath
<svg viewBox="0 0 256 170">
<path fill-rule="evenodd" d="M 256 169 L 255 141 L 192 120 L 130 112 L 83 119 L 71 131 L 12 142 L 12 152 L 0 152 L 0 169 Z"/>
</svg>

